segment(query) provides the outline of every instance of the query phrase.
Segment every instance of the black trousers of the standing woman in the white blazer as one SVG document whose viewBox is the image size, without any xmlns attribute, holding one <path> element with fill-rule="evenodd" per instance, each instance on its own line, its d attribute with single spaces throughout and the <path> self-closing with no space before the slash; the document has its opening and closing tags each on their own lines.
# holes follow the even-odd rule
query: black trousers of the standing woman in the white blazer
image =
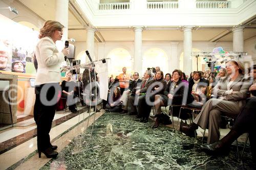
<svg viewBox="0 0 256 170">
<path fill-rule="evenodd" d="M 49 133 L 60 92 L 59 83 L 47 83 L 35 87 L 34 119 L 37 125 L 37 150 L 39 151 L 52 146 Z"/>
</svg>

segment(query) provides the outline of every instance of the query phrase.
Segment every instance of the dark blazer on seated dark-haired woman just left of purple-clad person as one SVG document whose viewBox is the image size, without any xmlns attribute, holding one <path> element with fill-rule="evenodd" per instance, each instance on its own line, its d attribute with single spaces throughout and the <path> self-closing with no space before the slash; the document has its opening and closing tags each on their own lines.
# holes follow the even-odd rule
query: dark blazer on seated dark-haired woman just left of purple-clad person
<svg viewBox="0 0 256 170">
<path fill-rule="evenodd" d="M 169 82 L 164 90 L 164 95 L 172 94 L 174 96 L 172 104 L 181 105 L 182 99 L 184 96 L 185 84 L 179 80 L 174 87 L 174 92 L 170 92 L 170 89 L 173 86 L 173 81 Z M 186 89 L 187 90 L 187 89 Z M 184 102 L 185 104 L 185 102 Z"/>
</svg>

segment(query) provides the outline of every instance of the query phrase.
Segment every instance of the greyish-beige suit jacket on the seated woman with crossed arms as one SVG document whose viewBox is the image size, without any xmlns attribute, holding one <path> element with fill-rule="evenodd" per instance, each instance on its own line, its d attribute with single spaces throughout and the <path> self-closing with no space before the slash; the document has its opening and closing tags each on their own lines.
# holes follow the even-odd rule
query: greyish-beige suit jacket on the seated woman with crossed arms
<svg viewBox="0 0 256 170">
<path fill-rule="evenodd" d="M 232 94 L 225 93 L 228 90 L 228 83 L 229 77 L 221 79 L 213 88 L 214 94 L 217 94 L 218 96 L 225 96 L 226 101 L 237 102 L 239 107 L 244 106 L 245 100 L 250 96 L 249 87 L 252 85 L 251 78 L 240 74 L 230 85 L 230 89 L 233 90 Z"/>
</svg>

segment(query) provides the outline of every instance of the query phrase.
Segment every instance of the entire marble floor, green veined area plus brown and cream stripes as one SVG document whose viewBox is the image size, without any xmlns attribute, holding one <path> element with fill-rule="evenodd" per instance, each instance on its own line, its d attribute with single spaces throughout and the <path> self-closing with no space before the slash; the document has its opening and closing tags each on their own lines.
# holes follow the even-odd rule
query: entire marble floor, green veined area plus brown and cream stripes
<svg viewBox="0 0 256 170">
<path fill-rule="evenodd" d="M 25 127 L 0 131 L 0 169 L 249 169 L 251 164 L 249 148 L 242 160 L 234 145 L 228 156 L 202 153 L 202 129 L 197 138 L 190 138 L 172 125 L 152 129 L 153 120 L 144 124 L 135 116 L 104 110 L 89 116 L 83 108 L 78 114 L 56 112 L 50 136 L 59 155 L 38 159 L 36 126 L 28 124 L 31 118 L 19 120 Z M 177 129 L 176 117 L 174 124 Z M 228 131 L 221 129 L 221 135 Z"/>
</svg>

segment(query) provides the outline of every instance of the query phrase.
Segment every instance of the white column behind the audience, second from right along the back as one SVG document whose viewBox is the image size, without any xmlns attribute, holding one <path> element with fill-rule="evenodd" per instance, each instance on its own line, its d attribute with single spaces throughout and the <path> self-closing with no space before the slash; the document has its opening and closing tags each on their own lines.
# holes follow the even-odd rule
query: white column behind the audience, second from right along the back
<svg viewBox="0 0 256 170">
<path fill-rule="evenodd" d="M 183 28 L 183 72 L 186 75 L 189 75 L 192 71 L 192 60 L 191 60 L 191 53 L 192 53 L 192 27 L 184 27 Z"/>
</svg>

